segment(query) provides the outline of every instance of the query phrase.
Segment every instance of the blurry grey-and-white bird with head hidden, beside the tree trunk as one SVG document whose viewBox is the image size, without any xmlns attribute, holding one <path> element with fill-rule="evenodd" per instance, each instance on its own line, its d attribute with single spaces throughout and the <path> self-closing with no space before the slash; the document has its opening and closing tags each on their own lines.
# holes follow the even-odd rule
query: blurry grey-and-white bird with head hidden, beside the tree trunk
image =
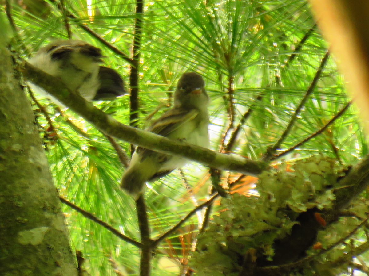
<svg viewBox="0 0 369 276">
<path fill-rule="evenodd" d="M 28 62 L 59 77 L 70 90 L 86 100 L 114 99 L 124 95 L 123 79 L 113 69 L 100 66 L 102 58 L 101 49 L 72 39 L 51 42 L 40 48 Z M 45 93 L 34 84 L 31 87 Z"/>
</svg>

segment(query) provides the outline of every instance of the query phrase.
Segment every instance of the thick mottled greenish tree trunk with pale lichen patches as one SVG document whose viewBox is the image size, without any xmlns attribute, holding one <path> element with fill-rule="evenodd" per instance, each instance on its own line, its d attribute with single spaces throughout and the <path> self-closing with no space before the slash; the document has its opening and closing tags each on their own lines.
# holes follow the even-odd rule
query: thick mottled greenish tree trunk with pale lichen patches
<svg viewBox="0 0 369 276">
<path fill-rule="evenodd" d="M 0 275 L 78 275 L 31 105 L 0 40 Z"/>
</svg>

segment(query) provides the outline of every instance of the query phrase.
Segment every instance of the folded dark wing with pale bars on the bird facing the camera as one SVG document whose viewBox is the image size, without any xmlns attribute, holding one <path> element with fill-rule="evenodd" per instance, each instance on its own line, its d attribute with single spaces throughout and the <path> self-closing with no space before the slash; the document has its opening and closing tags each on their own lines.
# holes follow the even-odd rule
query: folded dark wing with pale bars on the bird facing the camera
<svg viewBox="0 0 369 276">
<path fill-rule="evenodd" d="M 158 120 L 156 120 L 151 127 L 148 128 L 148 131 L 153 132 L 155 134 L 161 136 L 168 136 L 171 132 L 177 130 L 182 124 L 193 120 L 199 111 L 196 109 L 170 109 L 165 112 Z M 146 152 L 146 153 L 145 153 Z M 138 147 L 137 153 L 139 155 L 147 155 L 149 151 L 145 148 Z"/>
</svg>

